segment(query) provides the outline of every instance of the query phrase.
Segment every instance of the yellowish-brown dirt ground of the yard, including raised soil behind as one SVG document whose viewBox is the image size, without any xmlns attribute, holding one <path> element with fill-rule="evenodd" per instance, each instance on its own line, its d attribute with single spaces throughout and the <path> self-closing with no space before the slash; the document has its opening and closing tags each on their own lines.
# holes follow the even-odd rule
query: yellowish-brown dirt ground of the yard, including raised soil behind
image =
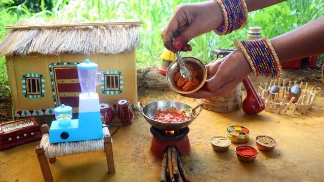
<svg viewBox="0 0 324 182">
<path fill-rule="evenodd" d="M 270 82 L 270 78 L 253 77 L 255 86 Z M 285 69 L 284 78 L 308 82 L 317 90 L 322 88 L 320 71 L 308 68 Z M 245 89 L 242 88 L 244 99 Z M 319 90 L 321 92 L 321 90 Z M 138 71 L 138 97 L 143 105 L 169 100 L 191 107 L 198 100 L 184 98 L 172 92 L 165 77 L 156 69 Z M 322 92 L 311 110 L 305 114 L 290 108 L 285 114 L 263 111 L 246 115 L 242 109 L 230 113 L 203 110 L 189 125 L 190 153 L 182 163 L 191 181 L 324 181 L 322 152 L 324 135 L 324 106 Z M 0 103 L 1 121 L 11 120 L 10 99 Z M 115 117 L 113 123 L 118 123 Z M 212 136 L 225 136 L 230 125 L 242 125 L 251 131 L 247 145 L 256 147 L 257 135 L 272 136 L 278 143 L 272 152 L 262 152 L 252 163 L 240 162 L 235 154 L 237 144 L 225 153 L 213 151 Z M 58 157 L 50 164 L 55 181 L 159 181 L 161 160 L 150 152 L 150 124 L 138 111 L 133 124 L 121 126 L 112 136 L 116 173 L 107 174 L 103 151 Z M 110 133 L 116 130 L 109 128 Z M 39 141 L 0 151 L 0 181 L 43 181 L 35 147 Z"/>
</svg>

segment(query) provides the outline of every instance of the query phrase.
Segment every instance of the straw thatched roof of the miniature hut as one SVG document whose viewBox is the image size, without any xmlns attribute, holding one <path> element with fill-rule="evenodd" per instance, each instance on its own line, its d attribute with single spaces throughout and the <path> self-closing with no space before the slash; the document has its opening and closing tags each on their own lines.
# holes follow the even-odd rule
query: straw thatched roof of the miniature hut
<svg viewBox="0 0 324 182">
<path fill-rule="evenodd" d="M 140 44 L 136 22 L 41 24 L 19 21 L 0 44 L 0 56 L 130 52 Z"/>
</svg>

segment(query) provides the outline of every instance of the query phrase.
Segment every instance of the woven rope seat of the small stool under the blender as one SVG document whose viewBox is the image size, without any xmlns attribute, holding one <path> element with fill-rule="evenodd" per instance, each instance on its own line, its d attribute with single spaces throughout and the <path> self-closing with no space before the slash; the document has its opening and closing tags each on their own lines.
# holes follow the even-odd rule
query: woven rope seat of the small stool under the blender
<svg viewBox="0 0 324 182">
<path fill-rule="evenodd" d="M 103 134 L 110 135 L 107 127 L 103 128 Z M 41 145 L 44 147 L 46 158 L 105 150 L 103 139 L 61 142 L 53 144 L 49 142 L 49 139 L 49 134 L 44 133 L 42 136 Z"/>
</svg>

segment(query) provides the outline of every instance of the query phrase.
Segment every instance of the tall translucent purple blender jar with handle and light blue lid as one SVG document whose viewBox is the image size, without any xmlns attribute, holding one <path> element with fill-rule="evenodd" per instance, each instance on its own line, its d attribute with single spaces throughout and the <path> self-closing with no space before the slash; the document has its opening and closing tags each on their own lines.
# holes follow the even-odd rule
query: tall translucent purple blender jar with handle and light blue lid
<svg viewBox="0 0 324 182">
<path fill-rule="evenodd" d="M 103 72 L 98 71 L 98 65 L 88 59 L 84 63 L 77 64 L 77 74 L 82 94 L 92 96 L 96 93 L 96 84 L 101 83 Z M 97 75 L 99 78 L 97 79 Z"/>
</svg>

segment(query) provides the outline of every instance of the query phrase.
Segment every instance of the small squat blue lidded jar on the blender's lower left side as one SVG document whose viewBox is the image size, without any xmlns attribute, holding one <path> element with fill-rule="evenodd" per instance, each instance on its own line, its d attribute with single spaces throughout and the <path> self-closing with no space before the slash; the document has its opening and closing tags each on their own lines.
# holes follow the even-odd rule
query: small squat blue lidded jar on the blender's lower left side
<svg viewBox="0 0 324 182">
<path fill-rule="evenodd" d="M 71 123 L 72 107 L 62 104 L 60 107 L 54 109 L 55 118 L 60 126 L 68 126 Z"/>
</svg>

